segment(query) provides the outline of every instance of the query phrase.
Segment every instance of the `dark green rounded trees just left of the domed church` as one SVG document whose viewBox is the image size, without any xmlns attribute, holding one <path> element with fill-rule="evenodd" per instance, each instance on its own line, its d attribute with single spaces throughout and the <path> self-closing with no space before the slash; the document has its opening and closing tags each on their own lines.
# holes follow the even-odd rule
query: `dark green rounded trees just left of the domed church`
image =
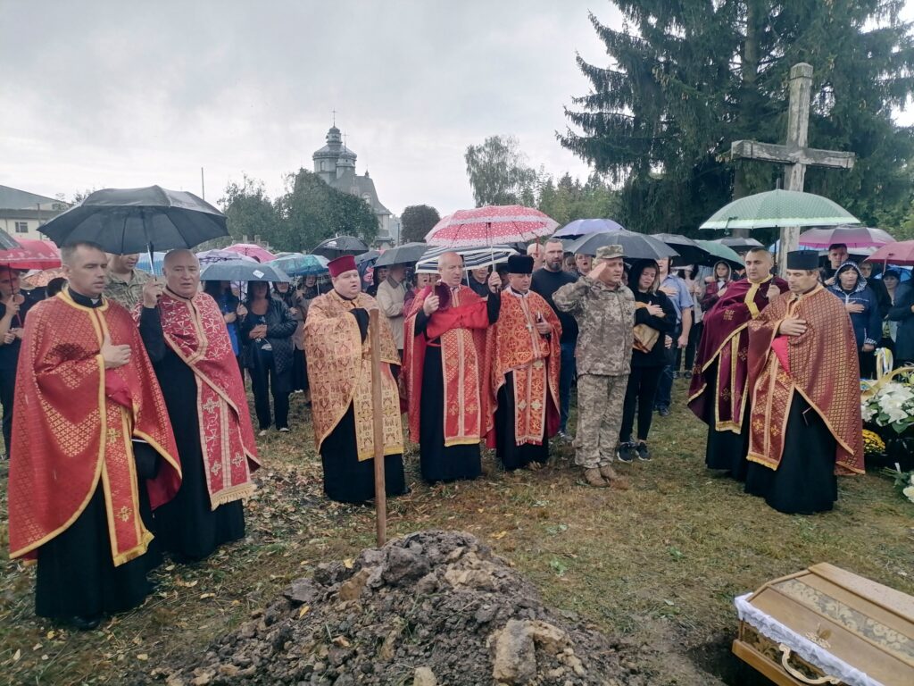
<svg viewBox="0 0 914 686">
<path fill-rule="evenodd" d="M 337 235 L 368 243 L 377 236 L 377 217 L 361 198 L 330 188 L 306 169 L 290 174 L 287 185 L 286 193 L 271 200 L 259 180 L 229 183 L 219 205 L 232 238 L 260 236 L 277 251 L 308 251 Z"/>
</svg>

